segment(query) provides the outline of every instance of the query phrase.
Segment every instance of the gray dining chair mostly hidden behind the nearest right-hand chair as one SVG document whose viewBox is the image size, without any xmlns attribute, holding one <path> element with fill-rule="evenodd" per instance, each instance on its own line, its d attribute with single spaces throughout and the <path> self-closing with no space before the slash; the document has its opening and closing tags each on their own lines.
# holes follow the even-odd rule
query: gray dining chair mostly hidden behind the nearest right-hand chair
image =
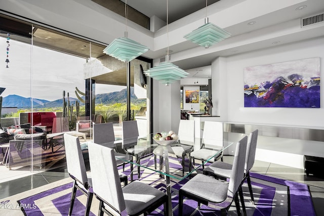
<svg viewBox="0 0 324 216">
<path fill-rule="evenodd" d="M 250 169 L 253 167 L 254 160 L 255 160 L 255 152 L 257 149 L 257 142 L 258 142 L 258 130 L 256 129 L 252 132 L 249 136 L 248 146 L 247 146 L 247 153 L 245 159 L 245 166 L 244 166 L 244 179 L 243 181 L 247 180 L 249 192 L 251 196 L 251 200 L 254 203 L 251 179 L 250 179 Z M 231 178 L 231 169 L 232 164 L 225 163 L 222 161 L 215 161 L 211 165 L 207 166 L 203 173 L 205 175 L 213 176 L 216 178 L 223 177 L 223 178 Z"/>
</svg>

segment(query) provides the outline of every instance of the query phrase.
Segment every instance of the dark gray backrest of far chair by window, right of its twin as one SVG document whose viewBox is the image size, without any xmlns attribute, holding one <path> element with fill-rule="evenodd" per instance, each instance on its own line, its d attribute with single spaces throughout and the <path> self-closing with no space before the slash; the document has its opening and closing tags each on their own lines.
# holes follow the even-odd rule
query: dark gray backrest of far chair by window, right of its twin
<svg viewBox="0 0 324 216">
<path fill-rule="evenodd" d="M 123 147 L 129 144 L 137 143 L 138 139 L 138 127 L 137 121 L 123 121 L 121 122 L 121 130 L 123 134 Z"/>
</svg>

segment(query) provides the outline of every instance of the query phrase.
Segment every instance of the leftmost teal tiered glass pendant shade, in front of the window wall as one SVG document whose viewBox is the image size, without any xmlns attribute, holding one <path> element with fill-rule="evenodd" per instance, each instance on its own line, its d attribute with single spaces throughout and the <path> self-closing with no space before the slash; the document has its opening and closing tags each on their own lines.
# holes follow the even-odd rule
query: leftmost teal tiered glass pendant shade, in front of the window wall
<svg viewBox="0 0 324 216">
<path fill-rule="evenodd" d="M 103 52 L 123 62 L 130 62 L 149 49 L 135 40 L 127 37 L 114 39 Z"/>
</svg>

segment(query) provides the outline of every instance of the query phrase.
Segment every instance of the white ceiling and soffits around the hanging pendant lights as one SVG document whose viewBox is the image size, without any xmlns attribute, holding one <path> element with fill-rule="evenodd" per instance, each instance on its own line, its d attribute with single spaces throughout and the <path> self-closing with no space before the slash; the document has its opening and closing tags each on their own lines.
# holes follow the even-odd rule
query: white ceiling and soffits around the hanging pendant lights
<svg viewBox="0 0 324 216">
<path fill-rule="evenodd" d="M 155 15 L 165 20 L 166 2 L 129 0 L 127 4 L 148 17 Z M 171 62 L 185 70 L 193 69 L 195 74 L 195 68 L 211 65 L 217 57 L 324 36 L 324 22 L 305 28 L 300 26 L 302 17 L 324 13 L 324 0 L 221 0 L 207 7 L 207 17 L 232 36 L 205 49 L 183 38 L 204 24 L 205 4 L 204 0 L 169 0 L 170 22 L 176 21 L 168 25 L 168 32 L 163 25 L 154 26 L 152 32 L 128 22 L 128 35 L 150 48 L 143 56 L 153 59 L 154 65 L 166 55 L 169 46 L 173 51 L 170 53 Z M 297 10 L 300 6 L 306 7 Z M 90 0 L 57 0 L 43 4 L 39 4 L 39 0 L 0 1 L 0 8 L 105 44 L 110 44 L 125 32 L 124 17 Z M 186 16 L 188 12 L 190 14 Z M 249 25 L 252 21 L 255 24 Z"/>
</svg>

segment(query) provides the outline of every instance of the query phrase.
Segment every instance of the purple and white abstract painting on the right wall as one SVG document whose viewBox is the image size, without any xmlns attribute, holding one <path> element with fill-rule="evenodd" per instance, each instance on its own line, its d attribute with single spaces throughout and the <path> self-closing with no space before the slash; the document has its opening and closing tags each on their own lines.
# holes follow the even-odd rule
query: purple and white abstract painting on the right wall
<svg viewBox="0 0 324 216">
<path fill-rule="evenodd" d="M 319 57 L 246 67 L 244 107 L 319 108 Z"/>
</svg>

